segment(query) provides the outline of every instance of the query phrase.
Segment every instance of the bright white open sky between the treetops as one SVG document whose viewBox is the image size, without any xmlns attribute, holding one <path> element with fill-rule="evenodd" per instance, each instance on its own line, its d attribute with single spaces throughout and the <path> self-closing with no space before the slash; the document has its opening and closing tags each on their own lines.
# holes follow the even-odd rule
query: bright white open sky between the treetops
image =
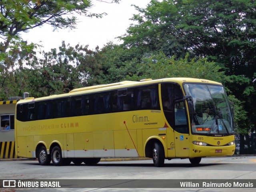
<svg viewBox="0 0 256 192">
<path fill-rule="evenodd" d="M 111 0 L 105 1 L 110 2 Z M 28 43 L 33 42 L 43 46 L 40 49 L 45 52 L 61 46 L 63 40 L 65 44 L 70 44 L 73 47 L 78 43 L 83 46 L 88 45 L 92 50 L 95 50 L 96 46 L 102 48 L 109 41 L 120 44 L 122 42 L 115 38 L 126 33 L 126 29 L 133 23 L 129 19 L 133 14 L 138 13 L 131 5 L 146 8 L 149 2 L 150 0 L 122 0 L 119 4 L 109 4 L 92 0 L 94 6 L 89 10 L 90 12 L 106 12 L 108 15 L 103 18 L 80 16 L 77 28 L 73 30 L 67 28 L 53 31 L 52 26 L 44 25 L 31 29 L 21 36 Z"/>
</svg>

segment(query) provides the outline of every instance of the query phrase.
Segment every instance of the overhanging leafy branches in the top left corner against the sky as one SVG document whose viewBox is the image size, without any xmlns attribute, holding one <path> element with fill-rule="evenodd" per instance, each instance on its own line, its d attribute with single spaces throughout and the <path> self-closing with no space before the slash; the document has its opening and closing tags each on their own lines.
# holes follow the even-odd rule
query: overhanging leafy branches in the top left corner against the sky
<svg viewBox="0 0 256 192">
<path fill-rule="evenodd" d="M 10 44 L 19 42 L 20 32 L 50 24 L 54 28 L 75 28 L 74 12 L 88 15 L 90 0 L 1 0 L 0 37 L 4 40 L 1 48 L 6 52 Z M 18 44 L 20 45 L 20 44 Z"/>
</svg>

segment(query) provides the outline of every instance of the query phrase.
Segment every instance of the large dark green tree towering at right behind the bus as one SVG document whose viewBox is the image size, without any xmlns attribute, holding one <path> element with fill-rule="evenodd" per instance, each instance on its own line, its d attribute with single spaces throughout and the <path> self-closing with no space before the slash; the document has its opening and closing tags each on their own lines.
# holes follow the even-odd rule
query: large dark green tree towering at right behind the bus
<svg viewBox="0 0 256 192">
<path fill-rule="evenodd" d="M 151 0 L 145 9 L 135 8 L 137 24 L 120 37 L 124 45 L 216 62 L 230 78 L 226 87 L 248 112 L 246 127 L 255 130 L 256 1 Z"/>
</svg>

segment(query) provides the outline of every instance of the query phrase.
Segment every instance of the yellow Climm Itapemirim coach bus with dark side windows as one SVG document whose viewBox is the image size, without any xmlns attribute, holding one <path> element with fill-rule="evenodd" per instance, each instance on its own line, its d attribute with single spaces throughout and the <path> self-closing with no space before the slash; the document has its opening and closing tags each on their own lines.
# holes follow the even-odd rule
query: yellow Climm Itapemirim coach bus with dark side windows
<svg viewBox="0 0 256 192">
<path fill-rule="evenodd" d="M 21 100 L 16 152 L 41 165 L 100 158 L 164 160 L 233 155 L 233 110 L 222 84 L 194 78 L 123 81 Z"/>
</svg>

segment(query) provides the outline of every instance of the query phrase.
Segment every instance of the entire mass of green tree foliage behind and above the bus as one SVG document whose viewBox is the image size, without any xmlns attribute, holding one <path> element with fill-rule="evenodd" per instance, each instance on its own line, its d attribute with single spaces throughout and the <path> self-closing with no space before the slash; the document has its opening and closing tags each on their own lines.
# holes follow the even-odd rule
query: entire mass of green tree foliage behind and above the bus
<svg viewBox="0 0 256 192">
<path fill-rule="evenodd" d="M 119 0 L 98 0 L 118 3 Z M 0 6 L 0 99 L 30 92 L 40 97 L 74 88 L 144 78 L 194 77 L 222 82 L 235 104 L 239 134 L 256 125 L 256 1 L 151 0 L 132 18 L 136 24 L 101 50 L 77 44 L 34 51 L 19 37 L 42 24 L 74 28 L 70 13 L 88 13 L 90 0 L 2 0 Z M 22 9 L 23 6 L 23 9 Z"/>
</svg>

